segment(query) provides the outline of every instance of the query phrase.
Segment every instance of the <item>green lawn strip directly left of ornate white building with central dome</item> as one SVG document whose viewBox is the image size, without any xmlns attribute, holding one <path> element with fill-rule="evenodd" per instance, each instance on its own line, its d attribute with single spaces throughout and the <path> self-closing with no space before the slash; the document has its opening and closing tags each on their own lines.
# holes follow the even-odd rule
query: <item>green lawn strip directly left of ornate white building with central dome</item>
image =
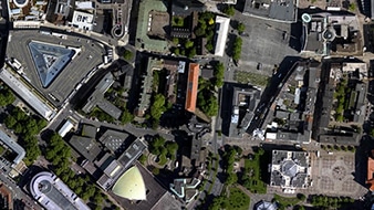
<svg viewBox="0 0 374 210">
<path fill-rule="evenodd" d="M 261 180 L 259 154 L 256 154 L 252 160 L 245 160 L 245 170 L 249 179 L 243 186 L 253 193 L 267 193 L 267 185 Z"/>
</svg>

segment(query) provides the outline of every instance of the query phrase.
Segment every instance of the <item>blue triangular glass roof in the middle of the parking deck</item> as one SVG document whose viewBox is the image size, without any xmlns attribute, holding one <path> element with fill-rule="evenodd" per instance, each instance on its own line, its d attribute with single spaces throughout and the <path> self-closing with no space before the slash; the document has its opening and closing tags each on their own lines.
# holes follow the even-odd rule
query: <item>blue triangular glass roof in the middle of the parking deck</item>
<svg viewBox="0 0 374 210">
<path fill-rule="evenodd" d="M 75 54 L 71 49 L 35 41 L 29 43 L 29 50 L 43 87 L 58 77 Z"/>
</svg>

